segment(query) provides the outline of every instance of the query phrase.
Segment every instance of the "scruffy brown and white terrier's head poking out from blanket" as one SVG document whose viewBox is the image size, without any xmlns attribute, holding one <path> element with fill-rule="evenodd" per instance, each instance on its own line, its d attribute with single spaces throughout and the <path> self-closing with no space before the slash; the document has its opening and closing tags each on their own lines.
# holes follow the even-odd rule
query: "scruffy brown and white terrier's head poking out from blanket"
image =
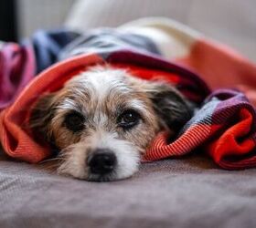
<svg viewBox="0 0 256 228">
<path fill-rule="evenodd" d="M 191 113 L 187 100 L 161 80 L 91 67 L 39 98 L 30 126 L 59 149 L 60 174 L 113 181 L 133 175 L 156 134 L 175 136 Z"/>
</svg>

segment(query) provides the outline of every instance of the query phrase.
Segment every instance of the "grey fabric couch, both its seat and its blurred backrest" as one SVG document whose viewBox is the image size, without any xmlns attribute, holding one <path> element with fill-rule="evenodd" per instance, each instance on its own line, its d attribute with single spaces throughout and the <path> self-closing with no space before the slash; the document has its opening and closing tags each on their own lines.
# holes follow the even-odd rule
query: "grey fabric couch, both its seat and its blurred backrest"
<svg viewBox="0 0 256 228">
<path fill-rule="evenodd" d="M 255 60 L 255 8 L 255 0 L 87 0 L 78 1 L 66 25 L 86 30 L 169 16 Z M 256 227 L 255 174 L 220 170 L 199 150 L 104 183 L 2 158 L 0 227 Z"/>
</svg>

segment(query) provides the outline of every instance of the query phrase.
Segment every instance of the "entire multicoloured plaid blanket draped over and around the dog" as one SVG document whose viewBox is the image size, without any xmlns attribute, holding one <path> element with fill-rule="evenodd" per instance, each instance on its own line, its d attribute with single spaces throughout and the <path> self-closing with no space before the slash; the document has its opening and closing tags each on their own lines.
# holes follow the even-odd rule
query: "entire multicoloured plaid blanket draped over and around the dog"
<svg viewBox="0 0 256 228">
<path fill-rule="evenodd" d="M 28 162 L 50 156 L 49 146 L 34 140 L 27 127 L 31 107 L 40 95 L 58 90 L 86 67 L 108 63 L 138 78 L 150 80 L 161 75 L 200 106 L 175 141 L 166 144 L 166 132 L 161 132 L 142 161 L 200 149 L 224 169 L 256 166 L 256 67 L 229 47 L 168 19 L 139 20 L 116 29 L 75 35 L 54 48 L 50 56 L 40 48 L 40 42 L 31 40 L 27 47 L 4 44 L 0 50 L 0 65 L 4 66 L 0 68 L 0 85 L 8 88 L 5 85 L 9 84 L 3 83 L 6 81 L 14 85 L 0 92 L 0 140 L 9 156 Z M 44 42 L 44 46 L 50 42 Z M 59 44 L 58 39 L 54 42 Z M 9 46 L 18 51 L 5 51 Z M 20 52 L 19 48 L 29 52 Z M 44 55 L 38 55 L 40 50 Z M 46 64 L 40 64 L 44 59 L 48 59 Z M 59 62 L 50 66 L 55 61 Z"/>
</svg>

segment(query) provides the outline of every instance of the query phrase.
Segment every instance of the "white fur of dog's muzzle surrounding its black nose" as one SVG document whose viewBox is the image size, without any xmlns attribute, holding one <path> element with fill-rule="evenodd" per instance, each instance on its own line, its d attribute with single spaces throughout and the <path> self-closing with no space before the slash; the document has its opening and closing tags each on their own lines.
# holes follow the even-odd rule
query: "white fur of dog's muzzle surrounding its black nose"
<svg viewBox="0 0 256 228">
<path fill-rule="evenodd" d="M 140 156 L 132 143 L 126 140 L 116 139 L 114 133 L 98 131 L 87 139 L 72 145 L 65 154 L 65 161 L 59 167 L 59 173 L 69 174 L 80 179 L 90 178 L 89 167 L 86 164 L 87 150 L 109 149 L 115 154 L 117 166 L 110 175 L 111 180 L 127 178 L 138 171 Z M 97 178 L 97 175 L 91 175 Z"/>
</svg>

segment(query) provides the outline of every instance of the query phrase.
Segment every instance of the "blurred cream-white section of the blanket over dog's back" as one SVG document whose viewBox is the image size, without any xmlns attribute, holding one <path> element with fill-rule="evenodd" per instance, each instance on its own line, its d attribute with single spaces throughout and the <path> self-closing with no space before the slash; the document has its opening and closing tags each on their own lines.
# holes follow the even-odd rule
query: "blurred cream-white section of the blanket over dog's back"
<svg viewBox="0 0 256 228">
<path fill-rule="evenodd" d="M 201 36 L 197 31 L 165 17 L 146 17 L 119 28 L 149 36 L 167 59 L 186 57 L 191 45 Z"/>
</svg>

